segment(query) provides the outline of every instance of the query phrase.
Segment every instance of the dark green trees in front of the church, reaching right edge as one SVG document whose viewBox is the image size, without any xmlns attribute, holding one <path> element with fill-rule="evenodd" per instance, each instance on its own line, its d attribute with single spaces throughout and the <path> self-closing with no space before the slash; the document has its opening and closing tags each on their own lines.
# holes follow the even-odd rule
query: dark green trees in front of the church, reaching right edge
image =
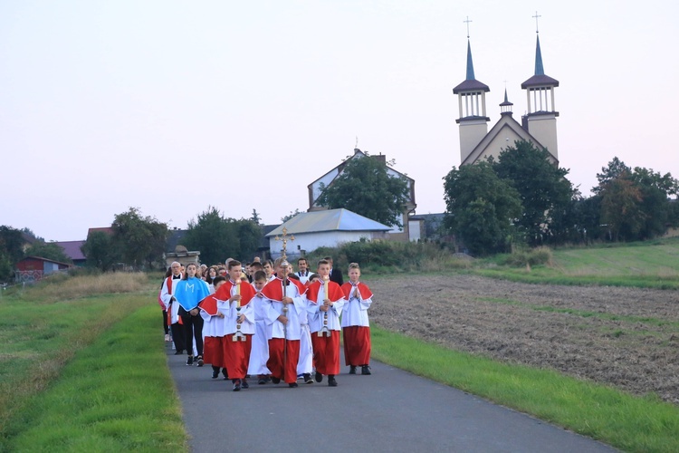
<svg viewBox="0 0 679 453">
<path fill-rule="evenodd" d="M 445 179 L 445 226 L 474 255 L 512 246 L 592 240 L 643 240 L 679 225 L 670 197 L 679 183 L 669 173 L 630 169 L 615 158 L 583 198 L 550 163 L 546 150 L 517 141 L 498 159 L 452 169 Z"/>
</svg>

